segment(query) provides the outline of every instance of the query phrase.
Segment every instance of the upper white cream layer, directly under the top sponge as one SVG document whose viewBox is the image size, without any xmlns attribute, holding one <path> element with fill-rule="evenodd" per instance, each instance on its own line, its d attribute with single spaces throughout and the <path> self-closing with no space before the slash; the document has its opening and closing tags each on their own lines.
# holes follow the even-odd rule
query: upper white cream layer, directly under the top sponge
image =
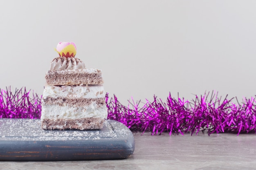
<svg viewBox="0 0 256 170">
<path fill-rule="evenodd" d="M 67 98 L 104 98 L 106 95 L 102 85 L 95 86 L 46 86 L 43 98 L 67 97 Z"/>
</svg>

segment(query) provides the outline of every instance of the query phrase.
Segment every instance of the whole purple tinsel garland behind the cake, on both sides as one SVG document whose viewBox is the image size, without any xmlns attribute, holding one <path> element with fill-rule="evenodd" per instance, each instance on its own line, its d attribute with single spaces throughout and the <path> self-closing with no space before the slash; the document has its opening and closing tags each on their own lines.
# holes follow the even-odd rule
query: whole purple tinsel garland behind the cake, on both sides
<svg viewBox="0 0 256 170">
<path fill-rule="evenodd" d="M 6 90 L 0 89 L 0 118 L 29 118 L 40 119 L 41 99 L 26 88 Z M 146 100 L 141 102 L 129 102 L 128 106 L 122 105 L 117 97 L 108 97 L 108 119 L 113 119 L 125 124 L 132 131 L 151 131 L 152 135 L 169 134 L 191 135 L 200 131 L 211 133 L 232 132 L 255 133 L 256 132 L 256 99 L 245 99 L 242 104 L 234 104 L 232 99 L 221 99 L 217 94 L 207 93 L 203 96 L 195 96 L 195 100 L 189 102 L 178 97 L 174 99 L 171 94 L 163 102 L 154 96 L 153 102 Z M 141 105 L 141 106 L 140 106 Z"/>
</svg>

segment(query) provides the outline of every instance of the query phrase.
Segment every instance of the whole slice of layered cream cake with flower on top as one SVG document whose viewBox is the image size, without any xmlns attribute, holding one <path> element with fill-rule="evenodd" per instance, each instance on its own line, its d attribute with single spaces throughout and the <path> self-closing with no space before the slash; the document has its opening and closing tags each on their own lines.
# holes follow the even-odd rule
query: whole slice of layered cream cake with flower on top
<svg viewBox="0 0 256 170">
<path fill-rule="evenodd" d="M 41 123 L 45 130 L 96 130 L 108 116 L 101 70 L 75 57 L 76 45 L 60 42 L 45 75 Z"/>
</svg>

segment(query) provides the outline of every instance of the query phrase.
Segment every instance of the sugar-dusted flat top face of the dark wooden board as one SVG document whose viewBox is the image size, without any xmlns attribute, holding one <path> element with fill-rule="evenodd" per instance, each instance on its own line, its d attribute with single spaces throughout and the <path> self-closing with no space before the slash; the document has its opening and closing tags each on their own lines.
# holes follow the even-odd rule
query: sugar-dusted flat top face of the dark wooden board
<svg viewBox="0 0 256 170">
<path fill-rule="evenodd" d="M 101 130 L 43 130 L 40 119 L 0 119 L 0 141 L 113 140 L 130 133 L 114 120 L 104 121 Z"/>
</svg>

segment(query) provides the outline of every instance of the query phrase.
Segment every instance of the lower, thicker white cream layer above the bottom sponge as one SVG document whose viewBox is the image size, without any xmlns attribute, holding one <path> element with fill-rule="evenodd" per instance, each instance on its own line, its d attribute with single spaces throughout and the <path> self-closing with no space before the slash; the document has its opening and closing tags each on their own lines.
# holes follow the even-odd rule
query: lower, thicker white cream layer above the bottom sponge
<svg viewBox="0 0 256 170">
<path fill-rule="evenodd" d="M 82 119 L 86 117 L 99 117 L 107 119 L 108 110 L 106 105 L 97 107 L 92 103 L 83 107 L 69 107 L 67 105 L 43 105 L 41 119 Z"/>
</svg>

